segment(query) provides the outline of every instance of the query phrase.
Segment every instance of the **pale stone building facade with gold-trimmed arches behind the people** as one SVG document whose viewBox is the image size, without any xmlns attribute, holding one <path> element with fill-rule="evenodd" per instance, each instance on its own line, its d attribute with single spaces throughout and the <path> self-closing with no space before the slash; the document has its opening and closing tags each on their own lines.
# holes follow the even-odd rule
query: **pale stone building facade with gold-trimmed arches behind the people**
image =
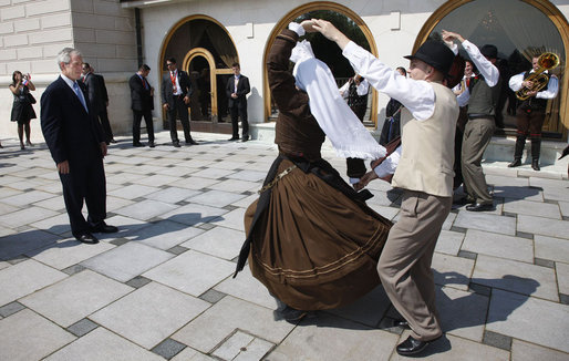
<svg viewBox="0 0 569 361">
<path fill-rule="evenodd" d="M 499 6 L 506 2 L 511 4 Z M 436 35 L 441 25 L 453 27 L 448 30 L 467 39 L 472 34 L 479 45 L 482 41 L 504 43 L 507 52 L 500 53 L 503 58 L 511 58 L 516 49 L 521 54 L 531 47 L 552 49 L 561 60 L 556 70 L 561 89 L 558 101 L 551 104 L 546 131 L 552 138 L 567 142 L 569 76 L 563 75 L 569 54 L 569 0 L 0 0 L 0 86 L 6 90 L 0 92 L 0 116 L 4 120 L 0 122 L 0 137 L 15 136 L 15 126 L 9 122 L 12 72 L 30 72 L 39 99 L 59 74 L 58 51 L 74 47 L 105 76 L 116 134 L 130 134 L 127 79 L 138 63 L 152 68 L 149 82 L 158 94 L 165 60 L 175 56 L 197 90 L 190 107 L 195 130 L 228 131 L 224 89 L 231 63 L 239 62 L 251 84 L 251 134 L 272 141 L 275 110 L 265 69 L 268 49 L 290 21 L 322 10 L 348 18 L 370 51 L 393 68 L 407 66 L 403 56 Z M 515 20 L 524 14 L 542 19 L 520 29 L 524 25 Z M 368 125 L 381 128 L 387 101 L 382 94 L 371 94 Z M 167 124 L 158 95 L 154 102 L 155 127 L 161 130 Z M 39 112 L 39 104 L 34 106 Z"/>
</svg>

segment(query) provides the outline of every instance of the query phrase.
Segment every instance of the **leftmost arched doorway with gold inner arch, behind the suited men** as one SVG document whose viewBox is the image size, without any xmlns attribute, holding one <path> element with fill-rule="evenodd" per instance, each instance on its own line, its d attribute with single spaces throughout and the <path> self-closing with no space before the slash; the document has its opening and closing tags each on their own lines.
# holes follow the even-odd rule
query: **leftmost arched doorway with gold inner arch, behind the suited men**
<svg viewBox="0 0 569 361">
<path fill-rule="evenodd" d="M 167 71 L 165 63 L 170 56 L 192 80 L 194 93 L 188 109 L 192 130 L 230 134 L 225 86 L 232 74 L 231 64 L 239 58 L 229 33 L 209 17 L 185 18 L 173 27 L 164 41 L 158 66 L 163 73 Z M 165 113 L 163 120 L 167 127 Z"/>
</svg>

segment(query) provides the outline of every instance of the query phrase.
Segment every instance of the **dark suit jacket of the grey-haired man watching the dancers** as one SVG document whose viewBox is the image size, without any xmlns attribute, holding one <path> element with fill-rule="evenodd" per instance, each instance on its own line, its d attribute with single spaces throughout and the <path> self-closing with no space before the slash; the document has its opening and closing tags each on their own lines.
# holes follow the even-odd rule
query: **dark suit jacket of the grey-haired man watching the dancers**
<svg viewBox="0 0 569 361">
<path fill-rule="evenodd" d="M 77 81 L 87 99 L 81 81 Z M 104 142 L 101 123 L 96 121 L 91 106 L 85 111 L 75 92 L 60 76 L 41 96 L 41 128 L 55 164 L 63 161 L 83 162 L 93 154 L 101 154 Z"/>
</svg>

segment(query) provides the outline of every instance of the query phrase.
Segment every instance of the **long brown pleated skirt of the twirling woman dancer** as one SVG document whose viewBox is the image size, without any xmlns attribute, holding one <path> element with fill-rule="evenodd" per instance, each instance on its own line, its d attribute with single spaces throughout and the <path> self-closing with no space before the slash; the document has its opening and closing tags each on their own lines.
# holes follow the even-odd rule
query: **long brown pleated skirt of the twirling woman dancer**
<svg viewBox="0 0 569 361">
<path fill-rule="evenodd" d="M 282 161 L 277 174 L 291 165 Z M 246 212 L 247 233 L 256 208 L 257 200 Z M 249 267 L 290 307 L 338 308 L 380 283 L 376 265 L 391 226 L 363 202 L 294 168 L 272 187 L 252 230 Z"/>
</svg>

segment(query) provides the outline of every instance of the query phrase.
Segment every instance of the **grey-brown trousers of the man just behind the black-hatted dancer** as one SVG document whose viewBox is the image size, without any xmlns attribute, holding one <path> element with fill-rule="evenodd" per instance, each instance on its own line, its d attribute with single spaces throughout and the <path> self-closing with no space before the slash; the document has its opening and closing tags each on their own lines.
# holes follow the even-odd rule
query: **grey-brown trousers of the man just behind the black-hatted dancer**
<svg viewBox="0 0 569 361">
<path fill-rule="evenodd" d="M 468 195 L 479 204 L 492 204 L 492 195 L 482 168 L 482 157 L 494 134 L 494 118 L 469 120 L 464 128 L 462 169 Z"/>
</svg>

